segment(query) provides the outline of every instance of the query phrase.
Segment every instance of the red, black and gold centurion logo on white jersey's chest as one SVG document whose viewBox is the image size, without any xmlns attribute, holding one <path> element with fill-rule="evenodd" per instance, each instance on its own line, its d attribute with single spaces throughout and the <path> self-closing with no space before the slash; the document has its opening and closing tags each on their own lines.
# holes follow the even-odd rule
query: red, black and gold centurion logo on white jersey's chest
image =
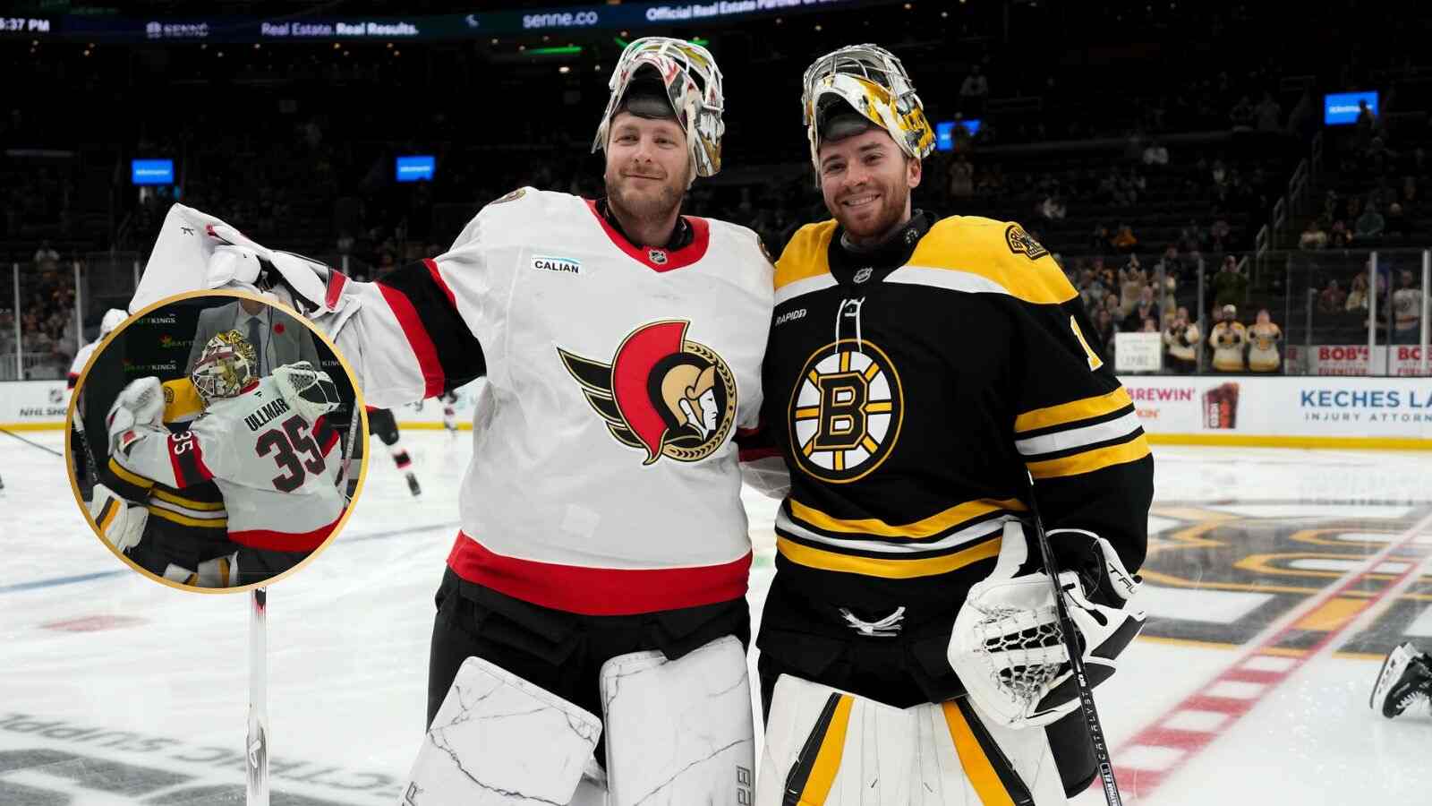
<svg viewBox="0 0 1432 806">
<path fill-rule="evenodd" d="M 736 377 L 715 350 L 686 338 L 689 321 L 644 324 L 621 340 L 610 364 L 557 349 L 563 366 L 621 445 L 697 462 L 736 422 Z"/>
</svg>

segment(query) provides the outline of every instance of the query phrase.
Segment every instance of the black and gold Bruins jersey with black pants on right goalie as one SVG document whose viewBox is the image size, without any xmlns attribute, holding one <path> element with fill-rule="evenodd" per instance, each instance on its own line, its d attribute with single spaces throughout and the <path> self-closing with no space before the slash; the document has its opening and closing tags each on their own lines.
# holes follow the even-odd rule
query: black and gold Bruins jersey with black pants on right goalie
<svg viewBox="0 0 1432 806">
<path fill-rule="evenodd" d="M 939 700 L 955 612 L 1028 513 L 1025 470 L 1047 528 L 1137 569 L 1153 456 L 1078 294 L 1017 224 L 918 214 L 874 252 L 839 238 L 806 225 L 776 265 L 763 432 L 790 493 L 758 644 L 813 680 L 895 651 L 925 693 L 892 704 Z"/>
</svg>

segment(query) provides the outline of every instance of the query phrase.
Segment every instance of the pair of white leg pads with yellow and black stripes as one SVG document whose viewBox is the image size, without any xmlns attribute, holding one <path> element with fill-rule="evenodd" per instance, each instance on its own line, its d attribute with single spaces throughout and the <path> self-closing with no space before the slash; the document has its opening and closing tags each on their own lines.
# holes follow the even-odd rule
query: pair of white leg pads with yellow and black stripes
<svg viewBox="0 0 1432 806">
<path fill-rule="evenodd" d="M 967 700 L 896 708 L 782 675 L 758 806 L 1065 802 L 1044 731 L 990 730 Z"/>
</svg>

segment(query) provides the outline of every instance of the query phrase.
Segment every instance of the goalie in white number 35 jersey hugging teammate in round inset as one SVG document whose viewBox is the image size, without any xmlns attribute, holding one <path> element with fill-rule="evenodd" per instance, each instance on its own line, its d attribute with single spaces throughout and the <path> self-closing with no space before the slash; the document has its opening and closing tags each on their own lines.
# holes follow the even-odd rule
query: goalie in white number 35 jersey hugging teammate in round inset
<svg viewBox="0 0 1432 806">
<path fill-rule="evenodd" d="M 205 412 L 186 430 L 160 423 L 159 379 L 132 381 L 110 413 L 110 449 L 127 473 L 173 489 L 212 480 L 239 551 L 200 564 L 190 584 L 246 585 L 281 574 L 338 526 L 341 452 L 325 414 L 338 406 L 326 373 L 306 361 L 259 379 L 253 347 L 236 330 L 205 344 L 195 387 Z"/>
</svg>

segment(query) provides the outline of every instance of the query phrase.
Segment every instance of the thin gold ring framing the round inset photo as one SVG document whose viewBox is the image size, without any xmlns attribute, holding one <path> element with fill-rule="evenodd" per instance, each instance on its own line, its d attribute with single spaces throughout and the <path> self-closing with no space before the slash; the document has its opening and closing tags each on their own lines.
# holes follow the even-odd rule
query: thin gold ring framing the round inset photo
<svg viewBox="0 0 1432 806">
<path fill-rule="evenodd" d="M 139 572 L 140 577 L 147 577 L 149 579 L 153 579 L 155 582 L 159 582 L 160 585 L 165 585 L 168 588 L 173 588 L 176 591 L 185 591 L 188 594 L 218 594 L 218 595 L 246 594 L 246 592 L 253 591 L 256 588 L 268 588 L 269 585 L 274 585 L 275 582 L 279 582 L 279 581 L 286 579 L 288 577 L 296 574 L 305 565 L 308 565 L 309 562 L 312 562 L 319 554 L 322 554 L 324 549 L 326 549 L 329 546 L 329 544 L 334 542 L 334 538 L 338 536 L 338 532 L 344 531 L 344 526 L 348 525 L 348 518 L 352 516 L 352 513 L 354 513 L 354 508 L 357 506 L 358 499 L 362 496 L 364 482 L 368 479 L 368 453 L 369 453 L 368 450 L 364 450 L 364 453 L 362 453 L 362 462 L 359 463 L 359 468 L 358 468 L 358 486 L 354 488 L 354 496 L 348 501 L 348 506 L 344 508 L 344 515 L 342 515 L 342 518 L 338 519 L 338 525 L 334 526 L 334 531 L 329 532 L 326 538 L 324 538 L 324 542 L 318 544 L 318 548 L 315 548 L 312 552 L 309 552 L 308 556 L 305 556 L 302 561 L 299 561 L 296 565 L 294 565 L 288 571 L 281 571 L 281 572 L 269 577 L 268 579 L 263 579 L 263 581 L 259 581 L 259 582 L 252 582 L 252 584 L 242 585 L 242 587 L 238 587 L 238 588 L 200 588 L 198 585 L 185 585 L 182 582 L 175 582 L 173 579 L 165 579 L 163 577 L 160 577 L 160 575 L 158 575 L 158 574 L 155 574 L 152 571 L 146 571 L 146 569 L 140 568 L 137 564 L 135 564 L 135 561 L 132 561 L 127 556 L 125 556 L 123 552 L 120 552 L 117 548 L 115 548 L 115 544 L 112 544 L 112 542 L 109 542 L 109 541 L 105 539 L 105 535 L 102 534 L 99 525 L 95 523 L 95 518 L 90 516 L 90 513 L 89 513 L 89 506 L 84 506 L 84 499 L 80 496 L 79 483 L 74 480 L 74 465 L 73 465 L 73 462 L 70 459 L 70 456 L 73 456 L 73 449 L 70 446 L 70 442 L 72 442 L 72 439 L 74 436 L 74 407 L 76 407 L 76 403 L 80 399 L 80 392 L 84 389 L 84 380 L 89 376 L 90 367 L 95 366 L 95 361 L 99 359 L 100 353 L 103 353 L 109 347 L 109 343 L 113 338 L 116 338 L 120 333 L 123 333 L 126 327 L 129 327 L 130 324 L 139 321 L 140 318 L 143 318 L 145 316 L 153 313 L 155 310 L 162 308 L 162 307 L 165 307 L 168 304 L 172 304 L 172 303 L 182 301 L 182 300 L 193 300 L 193 298 L 200 298 L 200 297 L 202 298 L 233 297 L 236 300 L 255 300 L 255 301 L 263 303 L 266 305 L 272 305 L 272 307 L 275 307 L 275 308 L 286 313 L 288 316 L 294 317 L 299 323 L 302 323 L 304 327 L 306 327 L 309 333 L 312 333 L 315 337 L 318 337 L 319 341 L 322 341 L 329 350 L 332 350 L 334 357 L 338 359 L 338 366 L 341 366 L 344 369 L 344 371 L 348 373 L 348 383 L 349 383 L 349 386 L 352 386 L 352 390 L 354 390 L 354 409 L 355 409 L 355 413 L 359 417 L 362 417 L 362 423 L 361 423 L 362 425 L 362 432 L 361 433 L 362 433 L 362 437 L 367 439 L 367 436 L 368 436 L 368 407 L 367 407 L 367 403 L 364 402 L 364 397 L 362 397 L 362 389 L 359 389 L 359 386 L 358 386 L 358 376 L 354 374 L 354 369 L 351 366 L 348 366 L 348 359 L 345 359 L 344 354 L 342 354 L 342 351 L 338 350 L 338 346 L 334 344 L 334 341 L 326 334 L 324 334 L 316 327 L 314 327 L 314 323 L 308 321 L 308 317 L 299 314 L 298 311 L 295 311 L 289 305 L 285 305 L 285 304 L 282 304 L 282 303 L 279 303 L 276 300 L 271 300 L 268 297 L 261 297 L 258 294 L 251 294 L 249 291 L 231 291 L 231 290 L 218 290 L 218 288 L 215 288 L 215 290 L 206 290 L 206 291 L 185 291 L 182 294 L 175 294 L 172 297 L 165 297 L 163 300 L 159 300 L 156 303 L 145 305 L 139 311 L 136 311 L 133 314 L 129 314 L 127 318 L 125 318 L 125 321 L 119 327 L 116 327 L 113 331 L 110 331 L 109 334 L 106 334 L 105 338 L 102 338 L 99 341 L 99 346 L 95 347 L 95 351 L 90 354 L 89 360 L 84 361 L 84 369 L 80 370 L 79 379 L 76 379 L 76 381 L 74 381 L 74 390 L 73 390 L 73 393 L 70 393 L 70 402 L 64 407 L 64 476 L 70 482 L 70 493 L 74 495 L 74 503 L 80 508 L 80 512 L 84 515 L 84 522 L 89 523 L 90 531 L 95 532 L 95 538 L 99 539 L 100 545 L 103 545 L 105 548 L 107 548 L 110 554 L 113 554 L 115 556 L 117 556 L 120 559 L 120 562 L 123 562 L 125 565 L 127 565 L 130 569 Z M 107 435 L 106 435 L 106 437 L 107 437 Z M 348 450 L 352 450 L 352 446 L 348 446 Z"/>
</svg>

